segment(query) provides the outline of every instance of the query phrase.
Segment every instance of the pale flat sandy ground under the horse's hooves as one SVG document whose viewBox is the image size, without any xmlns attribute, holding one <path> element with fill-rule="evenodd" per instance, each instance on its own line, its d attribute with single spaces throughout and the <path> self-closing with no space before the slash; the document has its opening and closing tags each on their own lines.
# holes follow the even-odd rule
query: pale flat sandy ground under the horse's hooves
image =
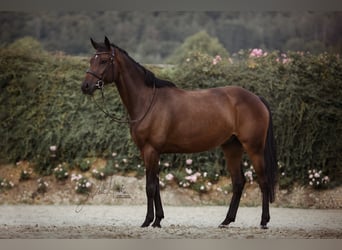
<svg viewBox="0 0 342 250">
<path fill-rule="evenodd" d="M 162 228 L 140 228 L 146 207 L 2 205 L 0 238 L 15 239 L 342 239 L 340 209 L 271 207 L 269 229 L 258 227 L 261 207 L 240 207 L 219 229 L 226 206 L 165 206 Z"/>
</svg>

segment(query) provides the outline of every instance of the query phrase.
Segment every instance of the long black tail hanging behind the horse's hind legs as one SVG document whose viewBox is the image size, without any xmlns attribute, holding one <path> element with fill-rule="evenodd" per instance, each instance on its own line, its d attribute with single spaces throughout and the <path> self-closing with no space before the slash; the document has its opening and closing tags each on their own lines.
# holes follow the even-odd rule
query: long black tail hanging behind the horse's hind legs
<svg viewBox="0 0 342 250">
<path fill-rule="evenodd" d="M 260 100 L 266 106 L 269 112 L 269 121 L 268 121 L 268 129 L 267 129 L 267 136 L 266 136 L 266 143 L 264 149 L 264 159 L 265 159 L 265 171 L 266 171 L 266 178 L 269 185 L 269 199 L 270 203 L 274 202 L 275 200 L 275 186 L 277 183 L 277 155 L 276 155 L 276 143 L 273 134 L 273 123 L 272 123 L 272 113 L 267 101 L 260 97 Z"/>
</svg>

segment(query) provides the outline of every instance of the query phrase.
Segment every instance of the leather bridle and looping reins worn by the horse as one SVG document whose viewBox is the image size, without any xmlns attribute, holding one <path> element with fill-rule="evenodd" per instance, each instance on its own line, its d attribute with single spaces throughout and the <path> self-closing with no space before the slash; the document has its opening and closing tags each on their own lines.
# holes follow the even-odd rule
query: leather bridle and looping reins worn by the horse
<svg viewBox="0 0 342 250">
<path fill-rule="evenodd" d="M 110 52 L 99 52 L 99 53 L 96 53 L 96 55 L 99 55 L 99 54 L 109 54 Z M 90 69 L 88 69 L 86 71 L 87 74 L 90 74 L 94 77 L 96 77 L 98 80 L 95 84 L 96 88 L 101 90 L 101 96 L 102 96 L 102 102 L 103 102 L 103 106 L 105 107 L 106 106 L 106 101 L 105 101 L 105 96 L 104 96 L 104 81 L 103 81 L 103 76 L 104 74 L 106 73 L 107 69 L 108 69 L 108 66 L 112 65 L 112 79 L 113 79 L 113 82 L 114 82 L 114 51 L 112 51 L 111 53 L 111 57 L 110 57 L 110 62 L 107 64 L 106 68 L 104 69 L 103 73 L 101 74 L 101 76 L 98 76 L 95 72 L 91 71 Z M 146 116 L 147 114 L 150 112 L 152 106 L 153 106 L 153 102 L 154 102 L 154 99 L 155 99 L 155 96 L 156 96 L 156 84 L 153 83 L 153 94 L 152 94 L 152 98 L 151 98 L 151 102 L 150 104 L 148 105 L 147 107 L 147 110 L 146 112 L 139 118 L 139 119 L 134 119 L 134 120 L 131 120 L 129 117 L 126 117 L 126 119 L 124 118 L 117 118 L 115 115 L 113 114 L 110 114 L 108 110 L 106 110 L 105 108 L 101 107 L 98 102 L 95 100 L 94 96 L 93 96 L 93 100 L 94 100 L 94 103 L 95 105 L 97 106 L 97 108 L 99 110 L 101 110 L 106 117 L 110 118 L 112 121 L 116 122 L 116 123 L 126 123 L 126 124 L 132 124 L 132 123 L 137 123 L 137 122 L 140 122 L 142 121 Z"/>
</svg>

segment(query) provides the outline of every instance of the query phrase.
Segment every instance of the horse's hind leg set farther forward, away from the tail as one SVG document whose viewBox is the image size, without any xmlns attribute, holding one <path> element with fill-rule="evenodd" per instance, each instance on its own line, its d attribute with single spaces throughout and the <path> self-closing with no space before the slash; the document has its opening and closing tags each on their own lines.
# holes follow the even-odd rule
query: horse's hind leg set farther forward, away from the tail
<svg viewBox="0 0 342 250">
<path fill-rule="evenodd" d="M 230 173 L 233 185 L 233 196 L 231 198 L 229 210 L 227 212 L 226 218 L 219 226 L 224 228 L 227 227 L 231 222 L 235 221 L 246 180 L 241 166 L 243 147 L 240 141 L 235 136 L 233 136 L 221 147 L 226 159 L 227 168 Z"/>
</svg>

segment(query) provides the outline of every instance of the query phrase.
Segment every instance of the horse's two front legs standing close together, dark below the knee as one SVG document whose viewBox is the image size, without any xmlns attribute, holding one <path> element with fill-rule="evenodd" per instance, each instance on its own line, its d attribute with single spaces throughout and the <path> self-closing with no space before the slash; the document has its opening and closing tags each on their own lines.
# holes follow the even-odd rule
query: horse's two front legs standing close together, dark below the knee
<svg viewBox="0 0 342 250">
<path fill-rule="evenodd" d="M 164 211 L 160 198 L 159 188 L 159 154 L 151 146 L 145 146 L 142 151 L 146 167 L 146 196 L 147 196 L 147 214 L 142 227 L 148 227 L 154 220 L 154 206 L 156 209 L 156 218 L 153 227 L 161 227 L 160 221 L 164 218 Z"/>
</svg>

